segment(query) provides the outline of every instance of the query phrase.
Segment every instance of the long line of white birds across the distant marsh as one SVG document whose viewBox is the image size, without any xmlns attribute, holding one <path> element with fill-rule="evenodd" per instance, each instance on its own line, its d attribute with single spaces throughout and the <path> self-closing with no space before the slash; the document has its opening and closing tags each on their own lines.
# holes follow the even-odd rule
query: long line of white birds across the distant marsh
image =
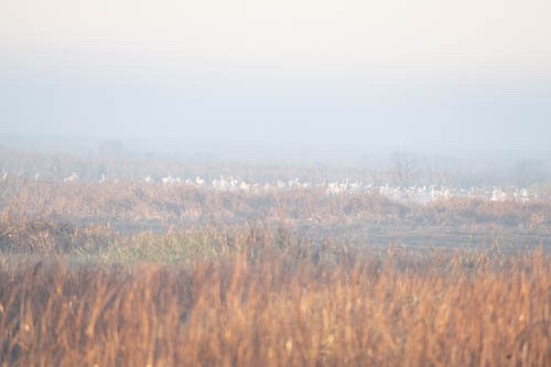
<svg viewBox="0 0 551 367">
<path fill-rule="evenodd" d="M 6 170 L 0 172 L 0 181 L 7 181 L 9 174 Z M 35 181 L 41 180 L 40 173 L 34 175 Z M 78 182 L 80 177 L 76 172 L 64 177 L 63 183 Z M 321 190 L 326 195 L 359 195 L 359 194 L 380 194 L 391 201 L 400 203 L 431 203 L 436 201 L 447 201 L 451 198 L 476 198 L 491 202 L 533 202 L 541 197 L 541 193 L 537 190 L 528 187 L 447 187 L 442 185 L 411 185 L 411 186 L 397 186 L 397 185 L 377 185 L 374 183 L 365 183 L 361 181 L 352 181 L 345 179 L 335 182 L 303 182 L 300 179 L 283 181 L 278 180 L 272 183 L 251 183 L 235 177 L 219 176 L 214 180 L 206 180 L 199 176 L 195 179 L 182 179 L 180 176 L 163 176 L 153 177 L 148 175 L 141 180 L 142 182 L 151 185 L 187 185 L 204 190 L 214 190 L 220 192 L 244 192 L 244 193 L 271 193 L 284 192 L 293 190 Z M 118 180 L 108 180 L 102 174 L 98 184 L 107 182 L 117 183 Z"/>
</svg>

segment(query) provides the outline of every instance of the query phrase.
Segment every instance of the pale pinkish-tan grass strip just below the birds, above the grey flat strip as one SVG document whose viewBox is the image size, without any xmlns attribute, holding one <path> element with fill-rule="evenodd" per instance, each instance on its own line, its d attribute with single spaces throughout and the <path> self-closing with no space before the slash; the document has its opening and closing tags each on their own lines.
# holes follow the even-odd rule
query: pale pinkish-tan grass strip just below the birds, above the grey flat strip
<svg viewBox="0 0 551 367">
<path fill-rule="evenodd" d="M 323 190 L 242 193 L 216 192 L 187 185 L 144 183 L 0 182 L 2 220 L 42 218 L 74 225 L 114 226 L 144 223 L 166 228 L 205 224 L 234 225 L 255 219 L 296 225 L 307 220 L 325 225 L 369 222 L 377 225 L 501 225 L 551 228 L 551 202 L 494 203 L 457 198 L 423 204 L 398 204 L 377 194 L 327 196 Z"/>
</svg>

